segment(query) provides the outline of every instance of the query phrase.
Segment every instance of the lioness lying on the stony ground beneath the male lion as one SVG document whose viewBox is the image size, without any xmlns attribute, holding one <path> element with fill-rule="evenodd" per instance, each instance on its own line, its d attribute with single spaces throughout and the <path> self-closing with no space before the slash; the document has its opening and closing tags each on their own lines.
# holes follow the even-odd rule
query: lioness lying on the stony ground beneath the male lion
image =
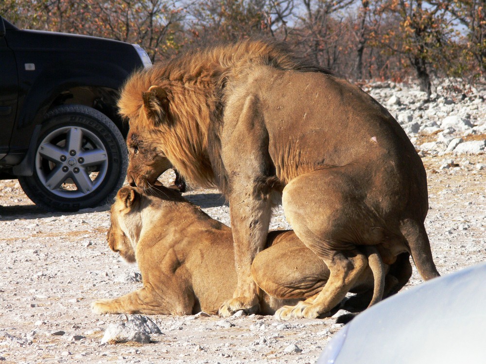
<svg viewBox="0 0 486 364">
<path fill-rule="evenodd" d="M 111 207 L 107 240 L 125 260 L 138 262 L 143 288 L 94 302 L 95 313 L 214 314 L 236 287 L 231 229 L 173 189 L 157 186 L 143 193 L 138 187 L 122 187 Z M 268 293 L 260 291 L 262 314 L 319 293 L 329 270 L 294 232 L 271 232 L 267 245 L 252 265 L 254 280 Z M 388 267 L 378 254 L 370 254 L 369 262 L 372 269 L 364 269 L 353 291 L 375 287 L 371 305 L 381 299 Z M 385 296 L 406 281 L 388 275 Z"/>
</svg>

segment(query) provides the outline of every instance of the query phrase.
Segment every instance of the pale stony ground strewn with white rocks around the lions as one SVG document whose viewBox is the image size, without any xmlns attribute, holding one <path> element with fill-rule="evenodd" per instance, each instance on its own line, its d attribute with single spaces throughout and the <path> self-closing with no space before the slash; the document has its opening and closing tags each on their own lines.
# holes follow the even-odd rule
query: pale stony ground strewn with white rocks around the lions
<svg viewBox="0 0 486 364">
<path fill-rule="evenodd" d="M 413 86 L 363 86 L 390 110 L 426 166 L 426 228 L 441 274 L 486 261 L 486 90 L 444 81 L 430 101 Z M 172 181 L 170 173 L 162 182 Z M 229 224 L 216 190 L 185 194 Z M 278 321 L 95 315 L 90 304 L 140 287 L 105 241 L 108 207 L 46 213 L 17 181 L 0 181 L 0 361 L 4 363 L 315 363 L 342 325 L 334 319 Z M 271 229 L 289 228 L 276 209 Z M 409 284 L 419 284 L 414 269 Z M 111 335 L 111 336 L 110 336 Z M 114 343 L 115 338 L 126 343 Z"/>
</svg>

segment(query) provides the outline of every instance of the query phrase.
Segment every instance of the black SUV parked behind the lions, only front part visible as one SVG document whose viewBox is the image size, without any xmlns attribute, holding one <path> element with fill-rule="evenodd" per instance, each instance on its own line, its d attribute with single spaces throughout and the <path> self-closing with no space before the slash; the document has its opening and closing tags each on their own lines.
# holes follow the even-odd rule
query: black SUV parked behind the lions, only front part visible
<svg viewBox="0 0 486 364">
<path fill-rule="evenodd" d="M 128 164 L 118 89 L 149 66 L 137 45 L 0 17 L 0 180 L 50 211 L 110 202 Z"/>
</svg>

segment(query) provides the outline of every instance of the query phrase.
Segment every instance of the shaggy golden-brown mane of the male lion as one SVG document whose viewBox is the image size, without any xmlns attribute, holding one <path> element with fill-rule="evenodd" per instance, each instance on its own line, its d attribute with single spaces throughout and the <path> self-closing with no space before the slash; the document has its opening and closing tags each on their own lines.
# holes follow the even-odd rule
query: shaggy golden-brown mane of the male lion
<svg viewBox="0 0 486 364">
<path fill-rule="evenodd" d="M 164 152 L 186 179 L 226 191 L 219 139 L 222 115 L 231 85 L 253 66 L 330 73 L 277 42 L 247 40 L 196 49 L 134 73 L 122 88 L 120 113 L 130 120 L 131 128 L 150 130 L 151 142 L 164 140 Z M 163 88 L 168 100 L 168 105 L 158 105 L 157 116 L 167 122 L 156 125 L 144 106 L 144 94 L 152 85 Z M 164 133 L 172 137 L 162 138 Z"/>
</svg>

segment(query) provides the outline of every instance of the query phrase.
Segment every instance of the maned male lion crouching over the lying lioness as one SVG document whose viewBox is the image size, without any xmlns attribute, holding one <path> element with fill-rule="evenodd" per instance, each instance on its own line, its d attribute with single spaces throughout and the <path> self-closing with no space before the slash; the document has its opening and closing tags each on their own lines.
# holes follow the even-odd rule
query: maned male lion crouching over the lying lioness
<svg viewBox="0 0 486 364">
<path fill-rule="evenodd" d="M 439 276 L 424 228 L 426 173 L 405 132 L 359 87 L 282 45 L 245 41 L 141 70 L 119 106 L 131 182 L 150 185 L 170 161 L 229 201 L 238 284 L 221 314 L 258 305 L 250 267 L 278 197 L 330 270 L 318 295 L 280 317 L 316 317 L 340 302 L 367 266 L 357 246 L 375 246 L 387 264 L 408 252 L 424 280 Z"/>
</svg>

